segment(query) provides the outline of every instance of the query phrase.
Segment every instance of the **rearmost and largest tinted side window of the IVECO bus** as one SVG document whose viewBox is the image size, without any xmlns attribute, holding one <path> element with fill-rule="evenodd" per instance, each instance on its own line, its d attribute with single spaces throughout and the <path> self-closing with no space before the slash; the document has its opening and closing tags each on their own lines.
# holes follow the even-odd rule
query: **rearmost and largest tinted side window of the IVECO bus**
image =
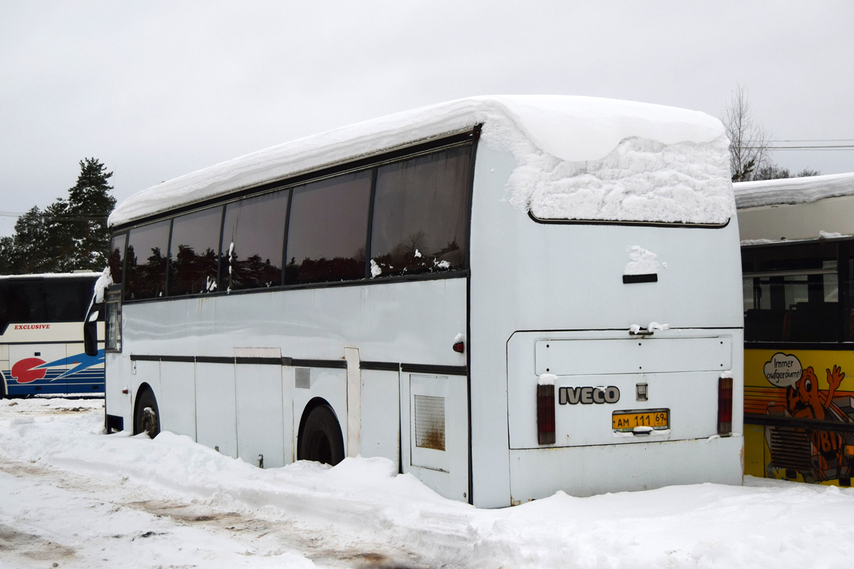
<svg viewBox="0 0 854 569">
<path fill-rule="evenodd" d="M 378 169 L 372 276 L 463 266 L 470 156 L 453 148 Z"/>
</svg>

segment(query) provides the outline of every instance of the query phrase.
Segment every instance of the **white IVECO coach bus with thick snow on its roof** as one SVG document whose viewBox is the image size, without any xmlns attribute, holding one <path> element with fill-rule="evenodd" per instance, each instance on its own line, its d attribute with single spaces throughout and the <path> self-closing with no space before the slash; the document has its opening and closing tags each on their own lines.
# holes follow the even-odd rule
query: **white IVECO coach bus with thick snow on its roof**
<svg viewBox="0 0 854 569">
<path fill-rule="evenodd" d="M 727 148 L 703 113 L 476 97 L 144 190 L 93 309 L 108 430 L 384 456 L 478 507 L 740 484 Z"/>
</svg>

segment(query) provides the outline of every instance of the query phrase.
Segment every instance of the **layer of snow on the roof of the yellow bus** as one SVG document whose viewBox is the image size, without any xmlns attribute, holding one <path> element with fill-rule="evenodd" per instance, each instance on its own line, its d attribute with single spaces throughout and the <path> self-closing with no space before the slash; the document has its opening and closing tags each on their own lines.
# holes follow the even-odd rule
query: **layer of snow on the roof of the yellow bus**
<svg viewBox="0 0 854 569">
<path fill-rule="evenodd" d="M 733 189 L 735 205 L 739 209 L 811 203 L 825 198 L 854 195 L 854 172 L 738 182 L 733 184 Z"/>
</svg>

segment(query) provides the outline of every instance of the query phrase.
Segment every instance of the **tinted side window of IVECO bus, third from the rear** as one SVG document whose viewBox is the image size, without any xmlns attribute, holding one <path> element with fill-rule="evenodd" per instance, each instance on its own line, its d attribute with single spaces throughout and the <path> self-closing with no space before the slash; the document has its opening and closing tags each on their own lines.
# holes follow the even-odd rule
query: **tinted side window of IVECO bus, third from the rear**
<svg viewBox="0 0 854 569">
<path fill-rule="evenodd" d="M 220 249 L 220 287 L 223 290 L 282 284 L 282 246 L 288 194 L 288 190 L 284 190 L 225 206 Z"/>
</svg>

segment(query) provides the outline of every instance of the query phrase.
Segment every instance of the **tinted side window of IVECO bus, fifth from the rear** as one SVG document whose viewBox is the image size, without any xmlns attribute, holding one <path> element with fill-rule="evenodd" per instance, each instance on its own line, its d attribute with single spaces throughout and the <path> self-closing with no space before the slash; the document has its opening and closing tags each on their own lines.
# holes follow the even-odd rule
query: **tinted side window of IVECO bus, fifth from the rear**
<svg viewBox="0 0 854 569">
<path fill-rule="evenodd" d="M 163 296 L 170 224 L 167 220 L 131 230 L 127 238 L 125 299 Z"/>
</svg>

